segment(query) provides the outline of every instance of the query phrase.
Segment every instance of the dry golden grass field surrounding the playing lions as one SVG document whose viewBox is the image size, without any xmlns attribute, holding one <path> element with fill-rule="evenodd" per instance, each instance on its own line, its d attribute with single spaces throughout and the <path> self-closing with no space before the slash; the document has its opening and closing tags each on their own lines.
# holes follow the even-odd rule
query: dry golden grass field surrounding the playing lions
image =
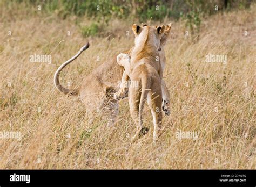
<svg viewBox="0 0 256 187">
<path fill-rule="evenodd" d="M 63 20 L 24 4 L 0 11 L 0 131 L 22 135 L 0 139 L 1 169 L 255 169 L 255 4 L 204 18 L 196 42 L 185 37 L 183 21 L 165 20 L 173 22 L 164 73 L 171 115 L 163 118 L 157 145 L 147 106 L 151 132 L 131 144 L 136 125 L 127 99 L 120 102 L 118 123 L 106 127 L 100 113 L 89 119 L 77 97 L 53 85 L 60 64 L 87 41 L 90 48 L 60 75 L 65 87 L 76 87 L 100 63 L 131 48 L 131 21 L 112 20 L 109 39 L 84 38 L 73 16 Z M 51 55 L 52 63 L 30 62 L 33 54 Z M 207 54 L 227 55 L 227 63 L 205 62 Z M 177 139 L 180 130 L 199 137 Z"/>
</svg>

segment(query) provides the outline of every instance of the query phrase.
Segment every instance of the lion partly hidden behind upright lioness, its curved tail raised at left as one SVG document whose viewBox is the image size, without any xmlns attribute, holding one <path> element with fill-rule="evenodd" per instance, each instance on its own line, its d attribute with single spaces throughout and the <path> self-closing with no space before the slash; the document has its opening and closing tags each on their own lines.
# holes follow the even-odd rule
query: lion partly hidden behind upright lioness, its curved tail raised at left
<svg viewBox="0 0 256 187">
<path fill-rule="evenodd" d="M 64 88 L 59 82 L 60 72 L 88 48 L 89 43 L 80 48 L 76 55 L 64 62 L 56 70 L 54 84 L 58 91 L 68 96 L 78 96 L 86 105 L 86 111 L 88 111 L 88 113 L 92 113 L 93 111 L 107 112 L 105 116 L 109 118 L 108 125 L 112 125 L 116 123 L 119 113 L 118 101 L 113 98 L 113 95 L 119 90 L 119 80 L 121 80 L 124 73 L 124 68 L 117 64 L 116 56 L 94 69 L 75 89 L 70 90 Z M 134 47 L 123 53 L 131 56 L 133 48 Z"/>
</svg>

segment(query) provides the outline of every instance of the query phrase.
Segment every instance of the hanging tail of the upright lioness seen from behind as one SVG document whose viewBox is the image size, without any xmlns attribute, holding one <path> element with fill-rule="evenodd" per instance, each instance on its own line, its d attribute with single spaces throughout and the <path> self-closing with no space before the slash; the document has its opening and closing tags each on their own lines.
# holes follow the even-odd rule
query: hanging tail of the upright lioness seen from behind
<svg viewBox="0 0 256 187">
<path fill-rule="evenodd" d="M 147 94 L 150 91 L 151 80 L 146 75 L 142 77 L 142 95 L 139 102 L 139 126 L 142 127 L 142 111 L 146 102 Z"/>
</svg>

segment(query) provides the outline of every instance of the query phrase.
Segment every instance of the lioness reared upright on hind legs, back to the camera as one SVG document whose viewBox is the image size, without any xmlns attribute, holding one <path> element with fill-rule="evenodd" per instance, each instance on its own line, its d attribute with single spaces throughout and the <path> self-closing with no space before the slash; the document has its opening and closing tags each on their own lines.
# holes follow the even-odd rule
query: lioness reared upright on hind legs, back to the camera
<svg viewBox="0 0 256 187">
<path fill-rule="evenodd" d="M 133 24 L 132 30 L 135 34 L 135 46 L 131 53 L 131 60 L 129 61 L 129 56 L 124 54 L 117 56 L 118 63 L 125 67 L 125 73 L 129 75 L 131 82 L 138 82 L 138 84 L 135 84 L 138 85 L 138 88 L 130 87 L 128 92 L 131 117 L 137 125 L 137 133 L 134 135 L 132 142 L 148 131 L 143 126 L 142 121 L 145 99 L 147 99 L 147 104 L 153 116 L 153 140 L 156 142 L 162 120 L 161 80 L 163 78 L 158 50 L 165 26 L 154 28 L 151 26 L 140 27 Z"/>
</svg>

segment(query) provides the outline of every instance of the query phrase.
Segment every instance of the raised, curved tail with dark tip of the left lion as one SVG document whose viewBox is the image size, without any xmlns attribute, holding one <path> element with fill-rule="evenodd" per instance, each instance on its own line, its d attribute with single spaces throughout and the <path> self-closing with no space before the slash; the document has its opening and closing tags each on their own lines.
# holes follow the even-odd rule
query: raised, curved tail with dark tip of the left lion
<svg viewBox="0 0 256 187">
<path fill-rule="evenodd" d="M 83 46 L 82 48 L 80 48 L 79 52 L 76 53 L 76 55 L 74 55 L 71 59 L 69 59 L 68 61 L 64 62 L 55 72 L 54 74 L 54 85 L 55 87 L 60 91 L 63 92 L 64 94 L 68 94 L 70 96 L 77 96 L 78 95 L 78 89 L 73 89 L 70 90 L 68 88 L 64 88 L 60 83 L 59 83 L 59 73 L 60 71 L 62 71 L 65 66 L 67 66 L 70 62 L 72 62 L 73 60 L 75 60 L 81 53 L 83 53 L 83 51 L 85 51 L 87 48 L 89 48 L 90 44 L 89 42 Z"/>
</svg>

